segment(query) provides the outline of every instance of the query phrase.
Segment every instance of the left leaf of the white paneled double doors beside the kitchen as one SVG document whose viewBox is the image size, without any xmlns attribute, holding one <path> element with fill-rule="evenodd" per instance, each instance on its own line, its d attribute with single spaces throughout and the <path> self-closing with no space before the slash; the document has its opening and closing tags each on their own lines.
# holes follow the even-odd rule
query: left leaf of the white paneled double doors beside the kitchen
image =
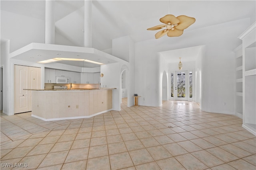
<svg viewBox="0 0 256 170">
<path fill-rule="evenodd" d="M 14 65 L 14 113 L 29 110 L 28 106 L 28 75 L 29 67 Z"/>
</svg>

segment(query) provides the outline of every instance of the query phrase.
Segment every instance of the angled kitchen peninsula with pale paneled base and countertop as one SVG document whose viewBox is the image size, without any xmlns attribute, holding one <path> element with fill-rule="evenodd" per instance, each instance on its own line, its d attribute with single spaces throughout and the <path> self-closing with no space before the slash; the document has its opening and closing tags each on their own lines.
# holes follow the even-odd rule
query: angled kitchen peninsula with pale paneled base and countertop
<svg viewBox="0 0 256 170">
<path fill-rule="evenodd" d="M 32 116 L 44 121 L 87 118 L 112 110 L 115 88 L 32 91 Z"/>
</svg>

